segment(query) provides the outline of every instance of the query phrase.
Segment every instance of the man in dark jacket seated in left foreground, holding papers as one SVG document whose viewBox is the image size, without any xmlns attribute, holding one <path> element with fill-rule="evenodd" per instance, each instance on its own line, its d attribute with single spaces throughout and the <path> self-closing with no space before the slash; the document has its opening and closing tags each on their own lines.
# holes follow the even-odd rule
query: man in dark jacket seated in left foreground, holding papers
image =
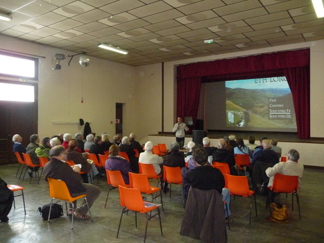
<svg viewBox="0 0 324 243">
<path fill-rule="evenodd" d="M 46 181 L 47 178 L 64 181 L 67 184 L 67 188 L 72 197 L 86 194 L 88 206 L 91 208 L 92 204 L 100 194 L 100 188 L 96 185 L 80 182 L 80 167 L 74 166 L 72 169 L 72 167 L 63 161 L 66 160 L 66 151 L 64 146 L 54 146 L 49 151 L 49 157 L 50 160 L 44 167 L 44 176 Z M 74 215 L 79 219 L 89 219 L 89 216 L 87 215 L 87 206 L 77 208 L 76 201 L 73 203 L 74 208 L 76 208 Z M 85 200 L 83 200 L 83 203 L 85 203 Z M 72 214 L 71 208 L 69 209 L 68 214 Z"/>
</svg>

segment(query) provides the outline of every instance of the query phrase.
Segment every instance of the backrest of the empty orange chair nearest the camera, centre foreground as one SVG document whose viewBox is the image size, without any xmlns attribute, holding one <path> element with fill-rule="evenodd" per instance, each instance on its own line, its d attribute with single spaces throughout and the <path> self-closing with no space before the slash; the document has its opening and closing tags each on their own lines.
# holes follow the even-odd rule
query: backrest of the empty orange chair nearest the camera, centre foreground
<svg viewBox="0 0 324 243">
<path fill-rule="evenodd" d="M 144 201 L 138 188 L 127 188 L 119 185 L 119 196 L 122 207 L 135 212 L 144 211 Z"/>
</svg>

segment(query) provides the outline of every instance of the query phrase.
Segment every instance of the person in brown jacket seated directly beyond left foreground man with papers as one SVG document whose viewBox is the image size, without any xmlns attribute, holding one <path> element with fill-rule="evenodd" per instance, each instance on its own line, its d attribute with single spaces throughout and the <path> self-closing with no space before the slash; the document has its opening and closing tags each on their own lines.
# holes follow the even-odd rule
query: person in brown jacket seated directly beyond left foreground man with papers
<svg viewBox="0 0 324 243">
<path fill-rule="evenodd" d="M 92 170 L 92 173 L 94 176 L 96 176 L 99 172 L 96 169 L 96 166 L 94 163 L 90 164 L 87 162 L 87 158 L 83 157 L 81 153 L 76 151 L 78 149 L 77 147 L 78 143 L 75 140 L 71 140 L 69 142 L 69 148 L 67 149 L 67 160 L 73 160 L 74 164 L 81 165 L 81 172 L 85 172 L 85 174 L 81 174 L 81 178 L 83 180 L 83 183 L 89 183 L 87 178 L 87 172 Z"/>
</svg>

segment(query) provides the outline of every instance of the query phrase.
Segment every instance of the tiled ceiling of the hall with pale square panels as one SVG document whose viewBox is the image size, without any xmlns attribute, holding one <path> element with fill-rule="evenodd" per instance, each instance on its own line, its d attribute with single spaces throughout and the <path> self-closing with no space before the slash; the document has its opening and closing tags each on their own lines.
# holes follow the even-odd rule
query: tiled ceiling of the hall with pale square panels
<svg viewBox="0 0 324 243">
<path fill-rule="evenodd" d="M 12 16 L 0 35 L 132 66 L 324 39 L 311 0 L 0 0 L 0 12 Z"/>
</svg>

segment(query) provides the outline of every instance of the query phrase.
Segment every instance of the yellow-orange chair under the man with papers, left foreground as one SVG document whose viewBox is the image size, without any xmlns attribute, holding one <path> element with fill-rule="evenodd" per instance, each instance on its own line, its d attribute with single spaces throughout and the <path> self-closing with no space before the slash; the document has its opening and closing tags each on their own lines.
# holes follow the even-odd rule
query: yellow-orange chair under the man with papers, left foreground
<svg viewBox="0 0 324 243">
<path fill-rule="evenodd" d="M 49 181 L 49 196 L 51 196 L 51 206 L 49 207 L 49 219 L 51 218 L 51 208 L 53 205 L 53 200 L 58 200 L 58 201 L 65 201 L 65 203 L 70 203 L 72 206 L 72 223 L 71 223 L 71 230 L 73 231 L 73 223 L 74 223 L 74 211 L 76 210 L 76 208 L 74 208 L 74 204 L 73 202 L 80 199 L 80 198 L 84 198 L 85 199 L 85 203 L 80 207 L 84 207 L 85 205 L 87 205 L 87 209 L 89 211 L 89 215 L 90 215 L 90 219 L 93 222 L 92 216 L 91 216 L 91 211 L 89 208 L 89 204 L 87 203 L 87 195 L 83 194 L 80 196 L 76 196 L 76 197 L 72 197 L 69 189 L 67 188 L 67 184 L 65 183 L 65 181 L 61 181 L 61 180 L 56 180 L 53 178 L 49 178 L 47 177 L 47 180 Z M 47 224 L 49 224 L 49 219 L 47 220 Z"/>
</svg>

